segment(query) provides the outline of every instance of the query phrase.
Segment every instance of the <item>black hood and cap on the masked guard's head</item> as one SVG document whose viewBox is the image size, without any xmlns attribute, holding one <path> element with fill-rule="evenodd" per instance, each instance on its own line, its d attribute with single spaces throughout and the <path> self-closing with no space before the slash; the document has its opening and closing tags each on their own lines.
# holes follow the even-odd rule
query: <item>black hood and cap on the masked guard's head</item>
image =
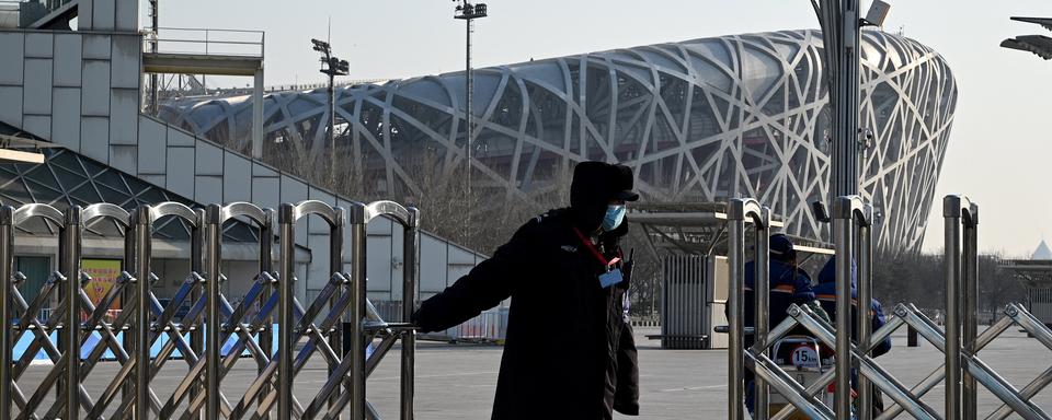
<svg viewBox="0 0 1052 420">
<path fill-rule="evenodd" d="M 610 200 L 636 201 L 632 168 L 605 162 L 581 162 L 573 168 L 570 208 L 578 228 L 593 232 L 603 223 Z"/>
</svg>

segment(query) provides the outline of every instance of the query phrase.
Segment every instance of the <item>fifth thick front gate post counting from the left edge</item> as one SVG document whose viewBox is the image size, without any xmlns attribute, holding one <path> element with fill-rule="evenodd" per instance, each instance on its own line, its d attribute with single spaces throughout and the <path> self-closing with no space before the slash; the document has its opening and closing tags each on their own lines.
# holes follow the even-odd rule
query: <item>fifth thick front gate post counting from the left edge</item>
<svg viewBox="0 0 1052 420">
<path fill-rule="evenodd" d="M 293 331 L 296 317 L 293 314 L 293 279 L 296 277 L 296 207 L 283 202 L 278 209 L 282 254 L 278 278 L 277 313 L 277 419 L 293 417 Z"/>
</svg>

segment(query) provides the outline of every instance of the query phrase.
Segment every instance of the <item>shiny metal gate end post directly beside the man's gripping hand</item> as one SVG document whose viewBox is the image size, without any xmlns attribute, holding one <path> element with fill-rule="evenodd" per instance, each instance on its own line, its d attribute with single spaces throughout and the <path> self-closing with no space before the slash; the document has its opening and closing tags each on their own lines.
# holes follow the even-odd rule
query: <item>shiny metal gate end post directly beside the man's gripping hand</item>
<svg viewBox="0 0 1052 420">
<path fill-rule="evenodd" d="M 420 242 L 420 210 L 408 208 L 409 223 L 402 234 L 402 322 L 408 323 L 416 308 L 416 246 Z M 401 420 L 413 420 L 413 392 L 416 363 L 416 330 L 402 335 Z"/>
</svg>

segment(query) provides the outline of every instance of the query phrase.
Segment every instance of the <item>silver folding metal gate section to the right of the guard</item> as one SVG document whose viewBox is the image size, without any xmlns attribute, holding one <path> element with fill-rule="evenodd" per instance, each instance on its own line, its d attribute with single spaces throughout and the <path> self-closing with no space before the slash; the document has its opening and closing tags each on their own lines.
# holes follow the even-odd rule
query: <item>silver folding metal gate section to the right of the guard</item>
<svg viewBox="0 0 1052 420">
<path fill-rule="evenodd" d="M 872 293 L 872 233 L 870 231 L 871 208 L 858 196 L 838 197 L 834 201 L 834 241 L 836 243 L 836 323 L 830 325 L 808 306 L 790 306 L 787 317 L 773 329 L 767 328 L 766 291 L 761 290 L 765 281 L 756 281 L 756 326 L 753 330 L 755 343 L 751 348 L 742 346 L 743 326 L 741 319 L 741 300 L 744 277 L 743 254 L 744 221 L 752 219 L 756 235 L 766 235 L 762 207 L 752 199 L 734 199 L 729 202 L 728 228 L 730 236 L 731 283 L 730 283 L 730 418 L 742 419 L 744 398 L 742 389 L 742 365 L 747 363 L 756 375 L 756 398 L 754 419 L 787 419 L 796 411 L 812 419 L 872 419 L 873 401 L 870 384 L 888 395 L 892 404 L 876 416 L 878 420 L 893 419 L 903 411 L 916 419 L 976 419 L 976 392 L 982 385 L 1003 405 L 990 413 L 987 419 L 1005 419 L 1015 413 L 1027 420 L 1050 419 L 1045 411 L 1030 401 L 1041 389 L 1052 384 L 1052 368 L 1047 369 L 1037 378 L 1022 388 L 1016 388 L 988 364 L 983 362 L 979 352 L 991 341 L 1014 325 L 1024 328 L 1047 348 L 1052 350 L 1052 330 L 1030 315 L 1019 304 L 1008 305 L 1005 316 L 979 334 L 979 314 L 976 307 L 977 287 L 977 224 L 979 206 L 961 196 L 947 196 L 944 199 L 944 220 L 946 233 L 946 323 L 945 329 L 912 304 L 899 304 L 895 316 L 877 331 L 870 331 L 867 316 L 859 316 L 854 326 L 856 340 L 853 341 L 850 325 L 850 277 L 851 261 L 858 262 L 858 304 L 859 313 L 865 313 Z M 766 237 L 764 237 L 766 240 Z M 757 246 L 756 278 L 761 277 L 759 267 L 766 266 L 766 249 Z M 763 315 L 763 316 L 762 316 Z M 936 368 L 918 384 L 907 387 L 880 366 L 870 352 L 892 332 L 908 326 L 918 331 L 936 349 L 944 352 L 942 365 Z M 768 347 L 802 327 L 824 346 L 835 349 L 835 370 L 822 372 L 821 376 L 807 386 L 797 382 L 792 375 L 775 363 L 767 354 Z M 858 374 L 855 384 L 858 389 L 857 410 L 853 410 L 850 399 L 851 371 Z M 833 407 L 825 405 L 816 395 L 826 389 L 830 383 L 836 383 Z M 938 384 L 946 390 L 944 412 L 923 401 L 923 397 Z M 777 390 L 789 404 L 775 416 L 767 410 L 767 386 Z"/>
</svg>

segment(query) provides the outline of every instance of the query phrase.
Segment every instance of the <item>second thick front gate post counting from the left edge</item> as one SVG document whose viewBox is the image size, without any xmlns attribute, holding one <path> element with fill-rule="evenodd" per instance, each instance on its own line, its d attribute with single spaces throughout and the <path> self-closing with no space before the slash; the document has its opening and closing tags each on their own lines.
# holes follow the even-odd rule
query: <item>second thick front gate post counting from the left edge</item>
<svg viewBox="0 0 1052 420">
<path fill-rule="evenodd" d="M 80 206 L 72 206 L 66 211 L 66 226 L 61 231 L 61 241 L 64 242 L 62 266 L 65 268 L 67 284 L 66 291 L 66 330 L 61 331 L 65 336 L 66 347 L 66 419 L 77 420 L 80 418 L 80 235 L 81 235 L 81 209 Z M 4 301 L 7 303 L 7 301 Z M 3 328 L 10 328 L 10 324 Z"/>
</svg>

